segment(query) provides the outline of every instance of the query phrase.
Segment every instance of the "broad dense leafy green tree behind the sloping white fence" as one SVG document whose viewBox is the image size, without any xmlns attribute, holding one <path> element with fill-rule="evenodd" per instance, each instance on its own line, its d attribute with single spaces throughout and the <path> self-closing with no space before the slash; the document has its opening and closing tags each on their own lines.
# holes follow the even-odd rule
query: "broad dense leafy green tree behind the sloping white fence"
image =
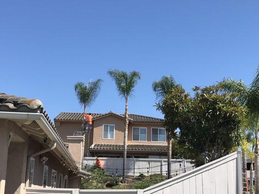
<svg viewBox="0 0 259 194">
<path fill-rule="evenodd" d="M 168 116 L 166 126 L 178 126 L 179 142 L 191 150 L 199 165 L 204 153 L 206 162 L 211 162 L 240 145 L 245 109 L 234 95 L 219 93 L 215 86 L 193 90 L 194 97 L 180 88 L 172 90 L 161 109 Z"/>
</svg>

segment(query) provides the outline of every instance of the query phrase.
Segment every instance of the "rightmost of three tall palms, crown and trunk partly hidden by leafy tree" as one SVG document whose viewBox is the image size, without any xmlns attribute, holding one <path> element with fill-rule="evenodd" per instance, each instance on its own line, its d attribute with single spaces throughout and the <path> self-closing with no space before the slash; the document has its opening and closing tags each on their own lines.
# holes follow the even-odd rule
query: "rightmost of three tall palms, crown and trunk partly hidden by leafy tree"
<svg viewBox="0 0 259 194">
<path fill-rule="evenodd" d="M 162 100 L 168 95 L 173 88 L 177 87 L 172 75 L 163 76 L 160 80 L 156 80 L 152 84 L 152 89 L 155 92 L 156 100 Z M 171 178 L 171 159 L 172 159 L 172 141 L 175 136 L 176 129 L 167 128 L 167 177 Z"/>
</svg>

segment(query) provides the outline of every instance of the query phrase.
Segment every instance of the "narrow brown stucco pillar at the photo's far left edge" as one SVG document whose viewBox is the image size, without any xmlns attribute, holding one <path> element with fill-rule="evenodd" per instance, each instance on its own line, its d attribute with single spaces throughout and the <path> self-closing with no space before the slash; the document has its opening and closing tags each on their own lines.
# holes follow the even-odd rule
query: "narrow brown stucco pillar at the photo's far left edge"
<svg viewBox="0 0 259 194">
<path fill-rule="evenodd" d="M 8 120 L 0 119 L 0 194 L 5 194 L 7 155 L 9 145 Z"/>
</svg>

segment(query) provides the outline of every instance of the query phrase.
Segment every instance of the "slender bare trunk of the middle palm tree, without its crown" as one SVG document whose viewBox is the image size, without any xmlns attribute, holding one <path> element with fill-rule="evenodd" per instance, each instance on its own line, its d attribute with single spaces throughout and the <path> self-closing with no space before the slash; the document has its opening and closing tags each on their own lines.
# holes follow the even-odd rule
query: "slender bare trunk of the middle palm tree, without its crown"
<svg viewBox="0 0 259 194">
<path fill-rule="evenodd" d="M 124 141 L 123 141 L 123 166 L 122 166 L 122 182 L 126 181 L 126 174 L 125 174 L 125 169 L 126 169 L 126 159 L 127 159 L 127 141 L 128 141 L 128 124 L 129 124 L 129 115 L 128 115 L 128 98 L 125 98 L 125 114 L 124 114 L 124 119 L 125 119 L 125 127 L 124 127 Z"/>
</svg>

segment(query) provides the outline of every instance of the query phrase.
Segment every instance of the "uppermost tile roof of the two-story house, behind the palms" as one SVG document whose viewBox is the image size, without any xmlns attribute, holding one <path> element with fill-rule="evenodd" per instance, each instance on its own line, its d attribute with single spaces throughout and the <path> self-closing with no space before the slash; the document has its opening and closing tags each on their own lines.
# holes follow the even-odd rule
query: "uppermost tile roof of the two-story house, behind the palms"
<svg viewBox="0 0 259 194">
<path fill-rule="evenodd" d="M 106 115 L 115 114 L 118 116 L 124 116 L 124 114 L 118 113 L 92 113 L 93 119 L 97 119 Z M 161 118 L 155 118 L 150 116 L 143 116 L 138 114 L 129 114 L 129 118 L 133 122 L 146 122 L 146 123 L 162 123 L 164 120 Z M 66 121 L 80 121 L 83 119 L 83 113 L 59 113 L 54 120 L 66 120 Z"/>
</svg>

